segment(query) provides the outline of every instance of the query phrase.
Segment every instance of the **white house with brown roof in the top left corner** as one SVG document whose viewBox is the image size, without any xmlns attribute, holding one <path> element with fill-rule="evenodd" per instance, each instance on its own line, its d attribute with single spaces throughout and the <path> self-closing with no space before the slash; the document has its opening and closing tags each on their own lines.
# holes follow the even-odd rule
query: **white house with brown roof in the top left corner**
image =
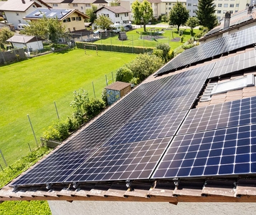
<svg viewBox="0 0 256 215">
<path fill-rule="evenodd" d="M 18 24 L 27 24 L 23 17 L 32 13 L 37 8 L 48 9 L 50 6 L 42 0 L 8 0 L 1 5 L 0 11 L 4 19 L 9 24 L 13 24 L 16 29 Z"/>
</svg>

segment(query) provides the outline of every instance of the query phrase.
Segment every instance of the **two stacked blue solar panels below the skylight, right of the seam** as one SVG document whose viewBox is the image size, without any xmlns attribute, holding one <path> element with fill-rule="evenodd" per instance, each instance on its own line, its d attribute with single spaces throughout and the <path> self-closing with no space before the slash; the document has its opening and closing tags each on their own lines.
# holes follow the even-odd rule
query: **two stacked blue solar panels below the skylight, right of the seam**
<svg viewBox="0 0 256 215">
<path fill-rule="evenodd" d="M 256 97 L 191 110 L 153 178 L 255 173 L 255 110 Z"/>
</svg>

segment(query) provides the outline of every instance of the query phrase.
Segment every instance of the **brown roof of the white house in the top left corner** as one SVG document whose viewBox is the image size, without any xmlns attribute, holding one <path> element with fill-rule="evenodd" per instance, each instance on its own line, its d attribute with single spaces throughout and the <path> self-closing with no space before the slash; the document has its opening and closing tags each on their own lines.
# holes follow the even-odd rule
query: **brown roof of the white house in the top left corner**
<svg viewBox="0 0 256 215">
<path fill-rule="evenodd" d="M 5 1 L 4 4 L 1 5 L 1 11 L 27 11 L 30 6 L 35 5 L 37 7 L 42 7 L 42 5 L 47 6 L 50 8 L 50 6 L 42 0 L 37 1 L 28 1 L 28 0 L 8 0 Z"/>
</svg>

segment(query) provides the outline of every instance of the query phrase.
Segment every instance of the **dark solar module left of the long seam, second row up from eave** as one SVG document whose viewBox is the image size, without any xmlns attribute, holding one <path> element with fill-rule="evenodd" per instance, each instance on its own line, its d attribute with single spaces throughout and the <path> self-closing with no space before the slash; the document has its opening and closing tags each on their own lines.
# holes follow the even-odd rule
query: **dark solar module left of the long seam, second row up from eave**
<svg viewBox="0 0 256 215">
<path fill-rule="evenodd" d="M 179 128 L 187 111 L 146 118 L 123 125 L 104 146 L 133 143 L 141 140 L 152 140 L 173 136 Z"/>
</svg>

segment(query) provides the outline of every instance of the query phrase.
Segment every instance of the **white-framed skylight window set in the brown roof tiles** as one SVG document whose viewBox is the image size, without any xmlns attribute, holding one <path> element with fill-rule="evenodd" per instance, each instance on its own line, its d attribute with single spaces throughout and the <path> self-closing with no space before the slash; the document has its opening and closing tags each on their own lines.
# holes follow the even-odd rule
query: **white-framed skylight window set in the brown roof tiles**
<svg viewBox="0 0 256 215">
<path fill-rule="evenodd" d="M 212 89 L 211 95 L 215 95 L 230 90 L 239 90 L 244 87 L 255 86 L 255 76 L 253 74 L 242 78 L 230 80 L 228 82 L 216 83 Z"/>
</svg>

